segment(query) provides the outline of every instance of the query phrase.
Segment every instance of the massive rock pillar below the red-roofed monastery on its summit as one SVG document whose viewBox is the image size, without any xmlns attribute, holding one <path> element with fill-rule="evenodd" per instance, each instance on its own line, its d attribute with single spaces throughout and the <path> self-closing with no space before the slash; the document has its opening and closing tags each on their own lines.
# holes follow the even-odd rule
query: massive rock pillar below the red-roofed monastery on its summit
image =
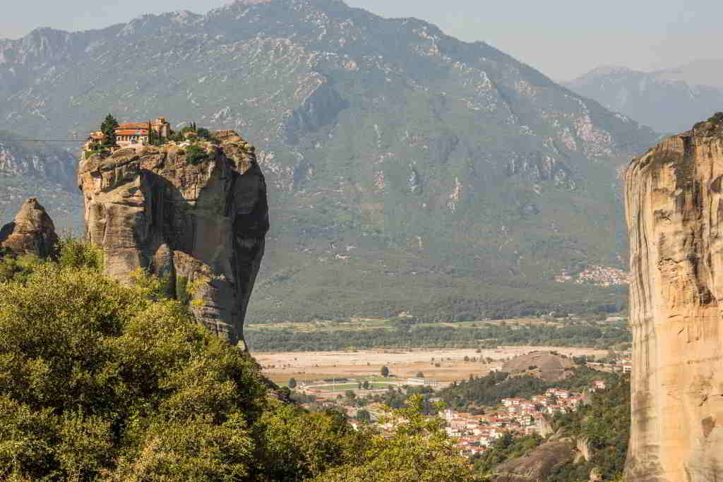
<svg viewBox="0 0 723 482">
<path fill-rule="evenodd" d="M 232 131 L 214 137 L 201 155 L 168 145 L 82 160 L 86 234 L 108 275 L 155 273 L 199 322 L 245 348 L 269 228 L 266 183 L 254 147 Z"/>
</svg>

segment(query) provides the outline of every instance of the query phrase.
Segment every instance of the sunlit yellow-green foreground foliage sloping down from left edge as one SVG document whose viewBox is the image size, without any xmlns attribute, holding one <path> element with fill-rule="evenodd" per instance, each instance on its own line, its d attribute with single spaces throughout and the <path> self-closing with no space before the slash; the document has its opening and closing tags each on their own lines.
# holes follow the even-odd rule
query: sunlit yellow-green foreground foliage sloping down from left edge
<svg viewBox="0 0 723 482">
<path fill-rule="evenodd" d="M 3 480 L 473 480 L 422 400 L 390 436 L 281 403 L 158 280 L 122 286 L 99 256 L 0 259 Z"/>
</svg>

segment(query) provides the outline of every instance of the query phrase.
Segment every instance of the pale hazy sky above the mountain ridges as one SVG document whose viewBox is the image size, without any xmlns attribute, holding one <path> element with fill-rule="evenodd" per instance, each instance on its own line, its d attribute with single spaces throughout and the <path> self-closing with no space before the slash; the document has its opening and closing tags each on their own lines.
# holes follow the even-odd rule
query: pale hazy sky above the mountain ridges
<svg viewBox="0 0 723 482">
<path fill-rule="evenodd" d="M 204 13 L 230 0 L 0 0 L 0 38 L 36 27 L 87 30 L 146 13 Z M 7 4 L 6 4 L 7 3 Z M 482 40 L 556 80 L 598 66 L 655 70 L 721 59 L 722 0 L 347 0 L 384 17 L 417 17 Z"/>
</svg>

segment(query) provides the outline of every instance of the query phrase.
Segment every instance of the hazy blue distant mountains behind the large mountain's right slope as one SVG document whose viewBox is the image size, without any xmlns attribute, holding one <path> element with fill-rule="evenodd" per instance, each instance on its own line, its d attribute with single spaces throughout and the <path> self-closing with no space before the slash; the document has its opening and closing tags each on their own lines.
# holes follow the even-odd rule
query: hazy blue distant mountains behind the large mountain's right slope
<svg viewBox="0 0 723 482">
<path fill-rule="evenodd" d="M 565 85 L 657 132 L 672 134 L 723 110 L 722 72 L 723 61 L 656 72 L 602 67 Z"/>
</svg>

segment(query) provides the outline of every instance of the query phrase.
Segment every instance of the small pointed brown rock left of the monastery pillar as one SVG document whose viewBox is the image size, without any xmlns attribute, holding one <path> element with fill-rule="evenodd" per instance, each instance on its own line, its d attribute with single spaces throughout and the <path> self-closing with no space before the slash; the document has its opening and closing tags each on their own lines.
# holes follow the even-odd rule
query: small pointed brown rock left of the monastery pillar
<svg viewBox="0 0 723 482">
<path fill-rule="evenodd" d="M 35 254 L 46 258 L 54 254 L 57 244 L 53 220 L 34 197 L 25 201 L 12 223 L 0 229 L 0 251 L 16 256 Z"/>
</svg>

